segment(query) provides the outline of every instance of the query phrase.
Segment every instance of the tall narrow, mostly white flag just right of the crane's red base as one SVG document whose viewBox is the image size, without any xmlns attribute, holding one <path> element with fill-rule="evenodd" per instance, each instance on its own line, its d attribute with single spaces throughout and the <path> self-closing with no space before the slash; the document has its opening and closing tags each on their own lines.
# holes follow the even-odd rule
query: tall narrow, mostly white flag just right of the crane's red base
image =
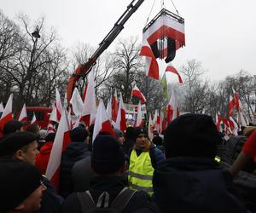
<svg viewBox="0 0 256 213">
<path fill-rule="evenodd" d="M 95 95 L 95 81 L 94 72 L 90 72 L 86 94 L 84 97 L 83 111 L 81 120 L 86 126 L 90 126 L 95 122 L 96 118 L 96 95 Z"/>
</svg>

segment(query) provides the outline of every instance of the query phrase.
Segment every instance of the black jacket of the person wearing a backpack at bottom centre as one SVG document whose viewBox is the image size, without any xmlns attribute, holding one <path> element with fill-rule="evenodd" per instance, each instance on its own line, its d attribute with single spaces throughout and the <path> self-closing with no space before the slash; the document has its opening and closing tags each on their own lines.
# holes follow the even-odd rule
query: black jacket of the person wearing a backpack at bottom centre
<svg viewBox="0 0 256 213">
<path fill-rule="evenodd" d="M 96 203 L 100 194 L 106 191 L 109 193 L 109 202 L 111 204 L 113 199 L 125 186 L 126 181 L 121 176 L 96 176 L 91 181 L 90 194 Z M 137 210 L 143 210 L 143 212 L 158 212 L 157 207 L 151 203 L 148 194 L 142 191 L 133 195 L 123 212 L 131 213 L 136 212 Z M 66 199 L 62 206 L 61 213 L 82 213 L 76 193 L 72 193 Z"/>
</svg>

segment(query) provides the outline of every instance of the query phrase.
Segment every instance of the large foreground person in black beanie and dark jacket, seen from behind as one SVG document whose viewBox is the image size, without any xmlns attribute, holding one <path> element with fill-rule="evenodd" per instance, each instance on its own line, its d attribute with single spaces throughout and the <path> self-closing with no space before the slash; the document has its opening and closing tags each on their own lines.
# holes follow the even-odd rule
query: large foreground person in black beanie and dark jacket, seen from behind
<svg viewBox="0 0 256 213">
<path fill-rule="evenodd" d="M 167 126 L 166 160 L 153 178 L 161 212 L 247 212 L 233 193 L 229 171 L 214 160 L 220 140 L 207 115 L 185 114 Z"/>
</svg>

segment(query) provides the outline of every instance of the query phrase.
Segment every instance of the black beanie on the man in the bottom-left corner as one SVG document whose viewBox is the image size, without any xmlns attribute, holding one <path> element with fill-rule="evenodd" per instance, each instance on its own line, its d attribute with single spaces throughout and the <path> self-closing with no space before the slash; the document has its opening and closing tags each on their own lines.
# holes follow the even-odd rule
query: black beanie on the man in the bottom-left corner
<svg viewBox="0 0 256 213">
<path fill-rule="evenodd" d="M 15 209 L 40 185 L 41 172 L 18 160 L 0 161 L 0 212 Z"/>
</svg>

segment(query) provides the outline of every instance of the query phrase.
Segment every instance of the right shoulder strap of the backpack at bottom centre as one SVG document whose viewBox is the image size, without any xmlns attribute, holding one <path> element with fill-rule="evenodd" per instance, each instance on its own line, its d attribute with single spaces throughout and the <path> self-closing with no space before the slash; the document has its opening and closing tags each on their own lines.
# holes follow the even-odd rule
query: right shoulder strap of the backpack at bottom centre
<svg viewBox="0 0 256 213">
<path fill-rule="evenodd" d="M 110 207 L 119 210 L 119 212 L 123 212 L 126 205 L 131 200 L 132 196 L 136 193 L 136 191 L 131 190 L 128 187 L 124 187 L 121 192 L 119 192 L 118 196 L 116 196 L 115 199 L 113 199 L 112 204 L 110 204 Z"/>
</svg>

